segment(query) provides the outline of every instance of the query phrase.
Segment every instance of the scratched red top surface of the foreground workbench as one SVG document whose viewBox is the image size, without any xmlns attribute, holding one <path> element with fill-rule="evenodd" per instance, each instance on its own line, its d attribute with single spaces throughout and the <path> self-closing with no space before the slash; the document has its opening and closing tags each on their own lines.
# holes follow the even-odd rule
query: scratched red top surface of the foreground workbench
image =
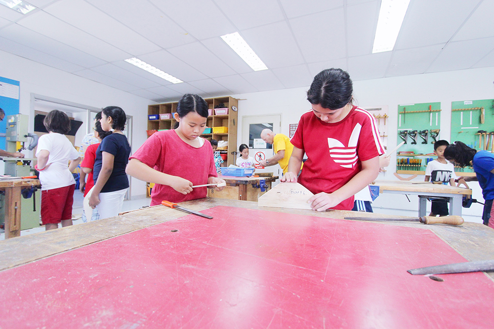
<svg viewBox="0 0 494 329">
<path fill-rule="evenodd" d="M 485 274 L 407 273 L 465 261 L 429 230 L 204 213 L 0 272 L 0 328 L 492 328 Z"/>
</svg>

